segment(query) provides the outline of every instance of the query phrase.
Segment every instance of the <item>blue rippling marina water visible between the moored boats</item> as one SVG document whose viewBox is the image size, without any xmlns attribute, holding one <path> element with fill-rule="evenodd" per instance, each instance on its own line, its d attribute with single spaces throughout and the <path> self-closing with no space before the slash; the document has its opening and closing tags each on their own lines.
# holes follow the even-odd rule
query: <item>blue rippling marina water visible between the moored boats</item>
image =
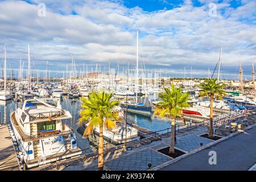
<svg viewBox="0 0 256 182">
<path fill-rule="evenodd" d="M 139 97 L 138 101 L 147 103 L 148 100 L 157 99 L 157 95 L 149 95 L 148 97 Z M 73 131 L 76 133 L 77 144 L 81 149 L 86 148 L 86 152 L 92 152 L 97 150 L 97 140 L 82 138 L 82 133 L 84 132 L 84 128 L 77 125 L 77 121 L 80 118 L 79 111 L 81 106 L 81 101 L 79 99 L 70 99 L 68 96 L 63 96 L 60 98 L 60 103 L 63 109 L 68 110 L 72 119 L 65 119 L 63 122 L 67 123 L 72 127 Z M 0 102 L 0 111 L 1 111 L 1 124 L 10 123 L 10 112 L 15 109 L 15 102 L 13 100 L 9 100 L 7 102 Z M 134 114 L 128 112 L 127 122 L 133 123 L 135 125 L 141 126 L 145 129 L 151 131 L 163 130 L 171 127 L 170 121 L 152 118 L 151 115 L 142 115 L 142 114 Z M 106 141 L 105 141 L 106 142 Z M 108 143 L 108 142 L 106 142 Z M 111 146 L 111 145 L 109 145 Z"/>
</svg>

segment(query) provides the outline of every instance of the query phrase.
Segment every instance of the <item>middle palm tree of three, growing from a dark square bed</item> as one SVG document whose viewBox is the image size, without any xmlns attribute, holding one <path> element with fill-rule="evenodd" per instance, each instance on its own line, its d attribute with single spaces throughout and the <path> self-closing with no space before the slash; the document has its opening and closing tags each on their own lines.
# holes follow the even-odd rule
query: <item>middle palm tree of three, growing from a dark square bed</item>
<svg viewBox="0 0 256 182">
<path fill-rule="evenodd" d="M 172 84 L 172 88 L 164 88 L 163 93 L 159 93 L 159 98 L 162 100 L 156 104 L 156 109 L 153 113 L 153 117 L 158 115 L 159 117 L 171 117 L 171 143 L 169 153 L 175 155 L 175 118 L 181 114 L 184 107 L 188 107 L 189 96 L 188 93 L 182 93 L 180 88 L 175 88 Z"/>
</svg>

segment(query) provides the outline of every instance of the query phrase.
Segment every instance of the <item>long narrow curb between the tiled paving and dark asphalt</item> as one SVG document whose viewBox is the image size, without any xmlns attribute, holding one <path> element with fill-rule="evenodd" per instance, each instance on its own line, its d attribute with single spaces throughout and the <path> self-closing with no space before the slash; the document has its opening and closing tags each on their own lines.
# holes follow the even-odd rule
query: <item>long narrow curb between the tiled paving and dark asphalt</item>
<svg viewBox="0 0 256 182">
<path fill-rule="evenodd" d="M 188 152 L 187 154 L 181 155 L 181 156 L 177 157 L 177 158 L 174 159 L 174 160 L 167 161 L 167 162 L 165 162 L 165 163 L 163 163 L 163 164 L 160 164 L 160 165 L 158 165 L 158 166 L 156 166 L 156 167 L 153 167 L 153 168 L 151 168 L 151 169 L 148 169 L 148 171 L 158 171 L 159 169 L 162 169 L 162 168 L 164 168 L 164 167 L 166 167 L 166 166 L 169 166 L 170 164 L 175 163 L 175 162 L 177 162 L 177 161 L 179 161 L 179 160 L 181 160 L 181 159 L 187 158 L 188 156 L 190 156 L 190 155 L 192 155 L 192 154 L 195 154 L 196 152 L 199 152 L 199 151 L 201 151 L 201 150 L 204 150 L 205 148 L 208 148 L 208 147 L 210 147 L 210 146 L 213 146 L 214 144 L 220 143 L 220 142 L 222 142 L 222 141 L 224 141 L 224 140 L 226 140 L 226 139 L 229 139 L 229 138 L 231 138 L 231 137 L 234 137 L 235 135 L 238 135 L 238 134 L 240 134 L 240 133 L 243 133 L 244 131 L 246 131 L 246 130 L 248 130 L 248 129 L 251 129 L 251 128 L 253 128 L 254 126 L 256 126 L 256 123 L 255 123 L 254 125 L 247 126 L 247 127 L 245 128 L 245 130 L 238 130 L 236 133 L 232 133 L 232 134 L 230 134 L 230 135 L 228 135 L 228 136 L 226 136 L 226 137 L 223 137 L 223 138 L 221 138 L 221 139 L 218 139 L 218 140 L 216 140 L 216 141 L 214 141 L 214 142 L 212 142 L 212 143 L 208 143 L 208 144 L 206 144 L 205 146 L 199 147 L 199 148 L 197 148 L 197 149 L 195 149 L 195 150 L 193 150 L 193 151 L 191 151 L 191 152 Z M 256 164 L 255 164 L 253 167 L 256 168 Z M 251 167 L 251 168 L 253 168 L 253 167 Z M 250 169 L 251 169 L 251 168 L 250 168 Z M 254 170 L 256 170 L 256 169 L 254 169 Z M 250 171 L 252 171 L 252 170 L 250 170 Z"/>
</svg>

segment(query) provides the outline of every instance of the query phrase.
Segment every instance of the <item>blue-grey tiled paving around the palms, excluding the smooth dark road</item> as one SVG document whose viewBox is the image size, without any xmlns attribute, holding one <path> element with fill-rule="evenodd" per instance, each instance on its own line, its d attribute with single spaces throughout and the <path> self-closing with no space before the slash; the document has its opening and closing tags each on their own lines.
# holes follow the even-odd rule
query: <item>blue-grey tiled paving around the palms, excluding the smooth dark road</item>
<svg viewBox="0 0 256 182">
<path fill-rule="evenodd" d="M 184 152 L 189 152 L 201 147 L 200 142 L 204 144 L 212 142 L 213 140 L 199 137 L 199 135 L 205 134 L 205 132 L 206 130 L 203 126 L 188 131 L 177 131 L 177 143 L 175 147 Z M 169 156 L 158 152 L 158 150 L 168 146 L 170 146 L 170 137 L 133 148 L 130 151 L 115 152 L 115 154 L 109 152 L 104 156 L 104 166 L 108 170 L 146 170 L 147 163 L 151 163 L 152 167 L 155 167 L 168 160 L 172 160 Z M 97 158 L 91 162 L 68 166 L 64 170 L 97 170 Z"/>
</svg>

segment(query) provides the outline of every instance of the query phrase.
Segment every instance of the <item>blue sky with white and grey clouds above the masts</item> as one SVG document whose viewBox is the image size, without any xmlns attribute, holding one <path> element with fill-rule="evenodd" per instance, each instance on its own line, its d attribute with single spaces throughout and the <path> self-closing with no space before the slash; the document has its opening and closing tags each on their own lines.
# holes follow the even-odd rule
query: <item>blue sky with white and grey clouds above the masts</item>
<svg viewBox="0 0 256 182">
<path fill-rule="evenodd" d="M 44 9 L 45 6 L 45 9 Z M 27 0 L 0 1 L 0 57 L 16 74 L 20 58 L 50 73 L 88 71 L 109 63 L 134 68 L 139 31 L 139 68 L 170 77 L 207 77 L 222 47 L 222 78 L 251 79 L 256 60 L 255 0 Z M 32 65 L 31 65 L 32 67 Z M 121 73 L 120 73 L 121 74 Z"/>
</svg>

